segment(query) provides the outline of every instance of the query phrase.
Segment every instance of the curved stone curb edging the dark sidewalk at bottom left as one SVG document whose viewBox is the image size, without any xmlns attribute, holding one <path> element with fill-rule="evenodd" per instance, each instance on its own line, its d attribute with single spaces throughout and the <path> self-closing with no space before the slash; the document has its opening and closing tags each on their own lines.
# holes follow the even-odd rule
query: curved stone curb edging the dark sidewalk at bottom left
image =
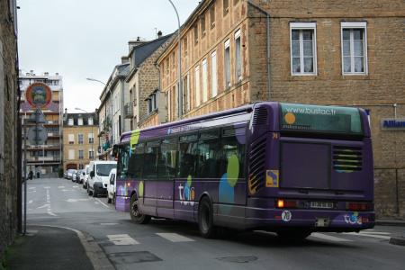
<svg viewBox="0 0 405 270">
<path fill-rule="evenodd" d="M 38 225 L 38 224 L 30 224 L 31 226 L 38 226 L 38 227 L 51 227 L 51 228 L 58 228 L 58 229 L 68 229 L 71 231 L 76 232 L 77 237 L 80 239 L 82 246 L 85 248 L 85 254 L 90 259 L 95 270 L 103 269 L 103 270 L 114 270 L 115 267 L 112 266 L 112 263 L 108 259 L 108 257 L 103 252 L 103 249 L 94 241 L 94 238 L 89 234 L 82 232 L 78 229 L 72 229 L 68 227 L 62 226 L 52 226 L 52 225 Z"/>
</svg>

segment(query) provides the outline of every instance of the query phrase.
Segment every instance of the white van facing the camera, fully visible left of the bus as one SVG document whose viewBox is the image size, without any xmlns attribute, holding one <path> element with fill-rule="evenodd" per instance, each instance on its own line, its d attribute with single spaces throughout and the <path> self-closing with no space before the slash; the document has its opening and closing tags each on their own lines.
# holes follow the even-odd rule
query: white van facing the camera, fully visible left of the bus
<svg viewBox="0 0 405 270">
<path fill-rule="evenodd" d="M 91 161 L 87 178 L 87 193 L 96 197 L 107 194 L 107 185 L 110 182 L 108 176 L 113 168 L 117 168 L 116 161 Z"/>
</svg>

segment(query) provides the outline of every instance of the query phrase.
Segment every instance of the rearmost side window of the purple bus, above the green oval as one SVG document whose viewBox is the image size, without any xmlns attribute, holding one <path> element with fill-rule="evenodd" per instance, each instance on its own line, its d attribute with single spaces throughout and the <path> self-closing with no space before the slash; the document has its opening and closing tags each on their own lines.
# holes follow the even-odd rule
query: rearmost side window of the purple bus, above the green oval
<svg viewBox="0 0 405 270">
<path fill-rule="evenodd" d="M 232 171 L 236 169 L 230 166 L 238 166 L 238 178 L 244 177 L 245 143 L 244 141 L 241 143 L 242 139 L 238 140 L 237 136 L 245 136 L 243 129 L 222 130 L 220 175 L 228 173 L 229 169 Z M 229 161 L 232 163 L 229 164 Z M 235 163 L 235 161 L 237 162 Z"/>
</svg>

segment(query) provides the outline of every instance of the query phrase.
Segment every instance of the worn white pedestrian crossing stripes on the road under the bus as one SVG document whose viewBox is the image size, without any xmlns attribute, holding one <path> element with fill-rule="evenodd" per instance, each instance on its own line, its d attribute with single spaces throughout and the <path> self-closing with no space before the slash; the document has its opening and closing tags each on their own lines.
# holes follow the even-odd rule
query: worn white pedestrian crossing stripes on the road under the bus
<svg viewBox="0 0 405 270">
<path fill-rule="evenodd" d="M 272 234 L 271 232 L 260 231 L 261 233 Z M 185 237 L 178 233 L 169 232 L 157 232 L 154 234 L 159 238 L 163 238 L 166 241 L 172 243 L 186 243 L 194 242 L 196 239 Z M 131 246 L 139 245 L 141 240 L 135 239 L 128 234 L 115 234 L 107 235 L 108 240 L 116 246 Z M 362 238 L 374 238 L 378 240 L 389 240 L 391 238 L 390 232 L 374 231 L 374 229 L 362 230 L 359 233 L 356 232 L 345 232 L 345 233 L 320 233 L 313 232 L 311 236 L 308 237 L 309 240 L 320 240 L 335 243 L 353 243 L 361 240 Z"/>
</svg>

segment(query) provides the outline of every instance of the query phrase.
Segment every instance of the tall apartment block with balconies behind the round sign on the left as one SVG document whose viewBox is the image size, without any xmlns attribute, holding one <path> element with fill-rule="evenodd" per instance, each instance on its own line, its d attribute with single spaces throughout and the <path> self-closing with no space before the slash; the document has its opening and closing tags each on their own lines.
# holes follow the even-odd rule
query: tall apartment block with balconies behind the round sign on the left
<svg viewBox="0 0 405 270">
<path fill-rule="evenodd" d="M 35 83 L 49 86 L 51 101 L 41 111 L 45 117 L 44 128 L 48 139 L 43 145 L 30 145 L 27 143 L 27 171 L 40 173 L 40 177 L 57 176 L 62 166 L 62 127 L 63 127 L 63 78 L 58 73 L 35 74 L 33 70 L 23 73 L 20 71 L 19 84 L 21 90 L 22 118 L 28 118 L 35 111 L 27 101 L 26 91 Z"/>
</svg>

